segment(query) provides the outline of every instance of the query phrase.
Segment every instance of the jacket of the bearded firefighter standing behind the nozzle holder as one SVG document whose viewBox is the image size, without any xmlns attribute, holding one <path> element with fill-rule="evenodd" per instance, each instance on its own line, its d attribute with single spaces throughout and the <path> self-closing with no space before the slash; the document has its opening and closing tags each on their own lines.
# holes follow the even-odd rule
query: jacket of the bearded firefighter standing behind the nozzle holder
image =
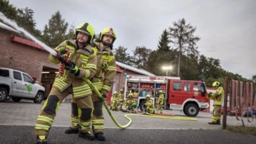
<svg viewBox="0 0 256 144">
<path fill-rule="evenodd" d="M 93 84 L 104 95 L 108 95 L 114 77 L 116 77 L 116 58 L 110 47 L 100 51 L 100 42 L 91 44 L 97 58 L 96 74 L 93 77 Z"/>
</svg>

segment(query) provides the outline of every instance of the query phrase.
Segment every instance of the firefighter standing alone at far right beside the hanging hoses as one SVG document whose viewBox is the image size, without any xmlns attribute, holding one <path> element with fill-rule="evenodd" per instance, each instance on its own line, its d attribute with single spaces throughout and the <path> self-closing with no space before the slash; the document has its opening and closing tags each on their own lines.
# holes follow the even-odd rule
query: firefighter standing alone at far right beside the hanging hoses
<svg viewBox="0 0 256 144">
<path fill-rule="evenodd" d="M 209 92 L 208 98 L 214 100 L 213 117 L 208 124 L 221 124 L 221 105 L 223 105 L 224 90 L 219 82 L 213 82 L 213 87 L 218 88 L 215 93 Z"/>
</svg>

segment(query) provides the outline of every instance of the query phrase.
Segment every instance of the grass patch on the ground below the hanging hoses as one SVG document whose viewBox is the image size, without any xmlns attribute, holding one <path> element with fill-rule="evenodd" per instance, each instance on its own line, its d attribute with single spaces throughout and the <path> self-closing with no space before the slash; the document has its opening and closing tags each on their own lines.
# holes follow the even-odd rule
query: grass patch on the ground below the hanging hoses
<svg viewBox="0 0 256 144">
<path fill-rule="evenodd" d="M 226 126 L 226 130 L 256 136 L 256 126 Z"/>
</svg>

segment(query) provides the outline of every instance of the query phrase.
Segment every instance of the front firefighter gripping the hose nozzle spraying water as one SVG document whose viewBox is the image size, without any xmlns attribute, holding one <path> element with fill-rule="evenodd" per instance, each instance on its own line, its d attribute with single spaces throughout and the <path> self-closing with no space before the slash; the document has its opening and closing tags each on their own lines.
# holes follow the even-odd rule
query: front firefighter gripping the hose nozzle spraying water
<svg viewBox="0 0 256 144">
<path fill-rule="evenodd" d="M 94 139 L 89 132 L 91 125 L 91 112 L 93 102 L 91 99 L 91 88 L 85 83 L 85 79 L 92 79 L 96 73 L 96 54 L 89 45 L 95 36 L 95 30 L 91 24 L 83 23 L 75 29 L 75 39 L 64 41 L 54 48 L 57 56 L 49 55 L 49 61 L 60 63 L 60 57 L 70 52 L 68 63 L 63 74 L 57 74 L 53 83 L 53 88 L 45 101 L 40 115 L 35 124 L 35 135 L 37 143 L 47 143 L 46 137 L 53 124 L 54 117 L 58 111 L 60 103 L 66 96 L 72 94 L 77 107 L 81 109 L 79 137 Z M 73 115 L 78 122 L 77 115 Z"/>
</svg>

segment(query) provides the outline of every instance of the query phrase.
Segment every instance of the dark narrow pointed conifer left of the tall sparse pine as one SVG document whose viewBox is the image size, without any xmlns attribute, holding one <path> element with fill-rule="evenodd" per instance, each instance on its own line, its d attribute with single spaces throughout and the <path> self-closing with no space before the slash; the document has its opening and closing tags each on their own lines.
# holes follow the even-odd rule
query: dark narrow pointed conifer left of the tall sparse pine
<svg viewBox="0 0 256 144">
<path fill-rule="evenodd" d="M 161 34 L 160 41 L 158 42 L 158 50 L 162 50 L 162 51 L 170 50 L 169 34 L 166 29 L 164 29 L 163 33 Z"/>
</svg>

